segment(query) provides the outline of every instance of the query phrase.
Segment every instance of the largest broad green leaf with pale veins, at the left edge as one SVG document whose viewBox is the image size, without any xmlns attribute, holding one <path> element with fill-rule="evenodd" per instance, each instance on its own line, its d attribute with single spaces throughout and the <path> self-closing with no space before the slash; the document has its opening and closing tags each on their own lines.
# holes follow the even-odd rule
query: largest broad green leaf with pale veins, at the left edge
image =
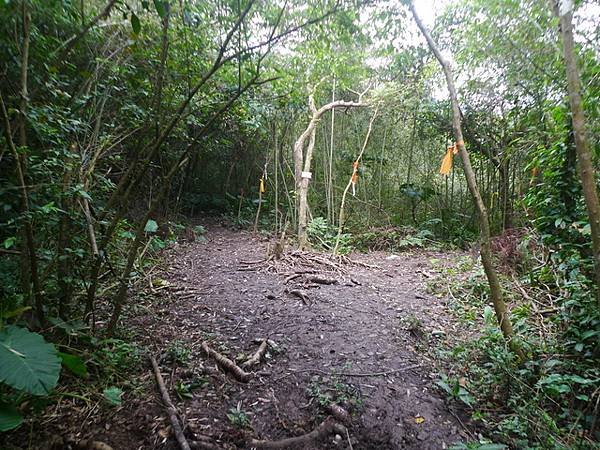
<svg viewBox="0 0 600 450">
<path fill-rule="evenodd" d="M 46 395 L 56 386 L 59 374 L 56 349 L 41 335 L 12 325 L 0 331 L 0 382 Z"/>
</svg>

